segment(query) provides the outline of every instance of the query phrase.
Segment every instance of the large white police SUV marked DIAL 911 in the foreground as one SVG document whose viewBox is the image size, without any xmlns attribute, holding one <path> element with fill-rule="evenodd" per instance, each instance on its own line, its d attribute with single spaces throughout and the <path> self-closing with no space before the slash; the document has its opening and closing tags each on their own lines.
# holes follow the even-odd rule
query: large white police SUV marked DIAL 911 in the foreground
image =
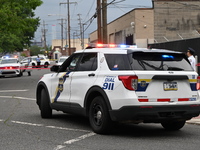
<svg viewBox="0 0 200 150">
<path fill-rule="evenodd" d="M 77 51 L 41 78 L 36 95 L 42 118 L 52 117 L 53 109 L 83 115 L 104 134 L 126 121 L 178 130 L 199 115 L 200 77 L 185 54 L 111 47 Z"/>
</svg>

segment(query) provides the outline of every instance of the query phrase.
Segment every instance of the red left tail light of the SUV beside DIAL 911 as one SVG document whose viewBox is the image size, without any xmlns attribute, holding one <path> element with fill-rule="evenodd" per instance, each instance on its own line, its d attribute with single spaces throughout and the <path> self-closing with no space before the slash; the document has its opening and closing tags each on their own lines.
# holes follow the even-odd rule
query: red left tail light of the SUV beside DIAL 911
<svg viewBox="0 0 200 150">
<path fill-rule="evenodd" d="M 122 81 L 124 87 L 128 90 L 137 90 L 138 77 L 137 76 L 118 76 L 119 80 Z"/>
</svg>

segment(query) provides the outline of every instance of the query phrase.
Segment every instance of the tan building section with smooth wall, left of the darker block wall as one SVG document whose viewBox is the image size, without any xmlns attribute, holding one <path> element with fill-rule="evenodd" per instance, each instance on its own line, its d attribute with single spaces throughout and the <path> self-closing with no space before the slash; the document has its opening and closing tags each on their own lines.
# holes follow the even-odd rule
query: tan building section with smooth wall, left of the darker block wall
<svg viewBox="0 0 200 150">
<path fill-rule="evenodd" d="M 152 8 L 138 8 L 126 13 L 108 24 L 108 43 L 147 47 L 154 40 L 153 20 Z M 90 34 L 89 40 L 90 43 L 97 42 L 97 31 Z"/>
</svg>

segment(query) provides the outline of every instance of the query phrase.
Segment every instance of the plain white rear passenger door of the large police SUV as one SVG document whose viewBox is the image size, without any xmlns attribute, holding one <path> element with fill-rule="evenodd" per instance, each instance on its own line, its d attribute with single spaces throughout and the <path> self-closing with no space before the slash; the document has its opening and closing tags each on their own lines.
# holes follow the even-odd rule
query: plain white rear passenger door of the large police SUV
<svg viewBox="0 0 200 150">
<path fill-rule="evenodd" d="M 71 107 L 83 107 L 87 91 L 94 85 L 98 75 L 97 52 L 84 53 L 71 81 Z M 72 105 L 74 104 L 74 105 Z"/>
</svg>

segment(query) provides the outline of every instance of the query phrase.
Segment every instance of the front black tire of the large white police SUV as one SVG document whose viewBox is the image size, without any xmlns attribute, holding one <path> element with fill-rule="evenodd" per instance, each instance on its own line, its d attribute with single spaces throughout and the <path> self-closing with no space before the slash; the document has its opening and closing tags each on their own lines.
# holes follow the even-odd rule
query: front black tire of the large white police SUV
<svg viewBox="0 0 200 150">
<path fill-rule="evenodd" d="M 52 117 L 52 109 L 50 107 L 49 96 L 45 89 L 41 91 L 41 100 L 40 100 L 40 114 L 42 118 L 51 118 Z"/>
</svg>

